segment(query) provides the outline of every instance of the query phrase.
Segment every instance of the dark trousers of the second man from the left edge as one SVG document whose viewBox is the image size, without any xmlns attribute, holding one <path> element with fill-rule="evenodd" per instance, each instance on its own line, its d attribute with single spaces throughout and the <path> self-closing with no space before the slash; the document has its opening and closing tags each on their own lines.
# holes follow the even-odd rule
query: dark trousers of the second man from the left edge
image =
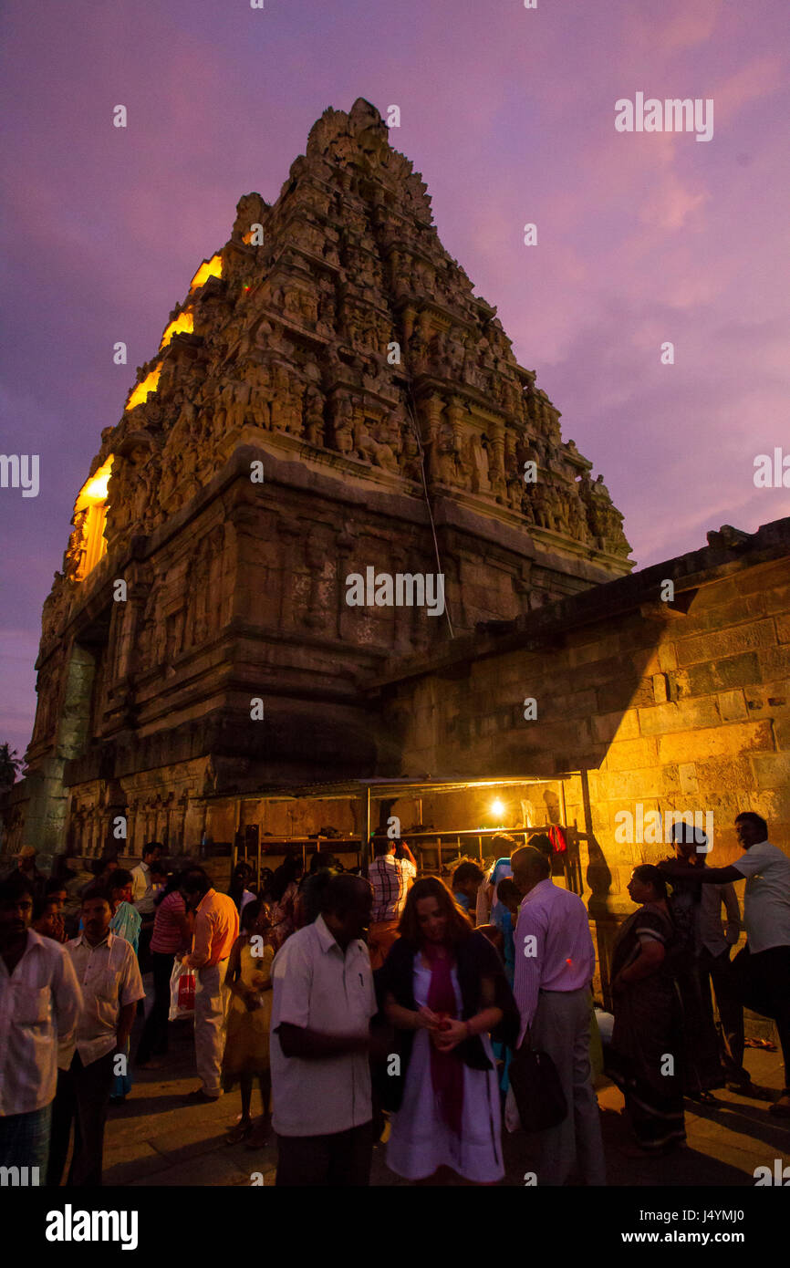
<svg viewBox="0 0 790 1268">
<path fill-rule="evenodd" d="M 67 1070 L 57 1071 L 57 1093 L 52 1107 L 52 1139 L 47 1184 L 57 1187 L 63 1178 L 68 1137 L 74 1122 L 74 1156 L 68 1184 L 101 1184 L 104 1125 L 113 1087 L 114 1052 L 82 1065 L 79 1052 Z"/>
</svg>

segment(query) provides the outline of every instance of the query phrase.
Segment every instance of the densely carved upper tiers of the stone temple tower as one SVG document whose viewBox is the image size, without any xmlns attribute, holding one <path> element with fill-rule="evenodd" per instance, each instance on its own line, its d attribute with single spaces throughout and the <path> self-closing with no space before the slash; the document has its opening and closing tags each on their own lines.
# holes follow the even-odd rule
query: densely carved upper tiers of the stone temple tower
<svg viewBox="0 0 790 1268">
<path fill-rule="evenodd" d="M 602 479 L 583 472 L 572 441 L 562 444 L 559 411 L 519 368 L 496 309 L 474 295 L 441 246 L 425 183 L 389 138 L 369 103 L 350 113 L 328 109 L 278 203 L 269 207 L 255 191 L 240 199 L 236 247 L 219 252 L 223 276 L 189 295 L 194 336 L 175 340 L 143 368 L 161 363 L 156 392 L 105 429 L 107 453 L 117 458 L 108 491 L 112 549 L 185 505 L 227 462 L 233 437 L 255 426 L 420 486 L 422 444 L 426 478 L 496 501 L 525 526 L 592 552 L 628 554 Z M 265 241 L 249 251 L 243 237 L 254 223 L 265 226 Z M 394 363 L 387 358 L 392 342 L 401 354 Z M 426 424 L 424 402 L 435 387 L 427 379 L 443 385 L 443 399 L 430 406 Z M 526 460 L 538 464 L 536 486 L 524 483 Z M 84 552 L 80 512 L 44 605 L 46 637 L 66 619 Z M 200 554 L 194 577 L 203 592 L 212 585 L 208 567 Z M 139 654 L 152 663 L 165 654 L 155 640 L 176 607 L 155 616 L 151 602 L 148 596 Z M 209 614 L 191 598 L 181 606 L 169 638 L 188 647 L 204 637 Z"/>
</svg>

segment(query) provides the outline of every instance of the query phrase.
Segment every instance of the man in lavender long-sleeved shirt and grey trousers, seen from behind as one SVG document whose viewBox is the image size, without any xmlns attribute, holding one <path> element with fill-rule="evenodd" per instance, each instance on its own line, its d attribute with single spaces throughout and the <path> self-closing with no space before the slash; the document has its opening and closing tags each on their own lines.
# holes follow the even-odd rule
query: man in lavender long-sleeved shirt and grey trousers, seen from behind
<svg viewBox="0 0 790 1268">
<path fill-rule="evenodd" d="M 538 1132 L 539 1186 L 564 1184 L 578 1163 L 585 1184 L 605 1184 L 604 1145 L 590 1064 L 590 985 L 595 948 L 587 908 L 577 894 L 550 879 L 552 865 L 526 846 L 511 857 L 514 881 L 525 895 L 514 937 L 514 995 L 521 1035 L 557 1066 L 568 1113 L 557 1127 Z"/>
</svg>

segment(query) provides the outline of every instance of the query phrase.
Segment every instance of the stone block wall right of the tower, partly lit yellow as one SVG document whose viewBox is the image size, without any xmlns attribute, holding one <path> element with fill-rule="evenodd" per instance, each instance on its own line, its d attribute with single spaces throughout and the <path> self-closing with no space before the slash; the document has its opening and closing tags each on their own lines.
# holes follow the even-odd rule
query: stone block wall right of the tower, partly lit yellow
<svg viewBox="0 0 790 1268">
<path fill-rule="evenodd" d="M 659 597 L 666 579 L 671 602 Z M 643 817 L 713 814 L 710 861 L 725 865 L 741 852 L 734 817 L 751 809 L 790 852 L 790 520 L 458 640 L 454 654 L 401 666 L 379 691 L 406 772 L 567 773 L 605 964 L 633 909 L 633 866 L 670 853 L 624 839 L 623 812 L 634 834 L 639 806 Z M 535 720 L 524 716 L 528 697 Z"/>
</svg>

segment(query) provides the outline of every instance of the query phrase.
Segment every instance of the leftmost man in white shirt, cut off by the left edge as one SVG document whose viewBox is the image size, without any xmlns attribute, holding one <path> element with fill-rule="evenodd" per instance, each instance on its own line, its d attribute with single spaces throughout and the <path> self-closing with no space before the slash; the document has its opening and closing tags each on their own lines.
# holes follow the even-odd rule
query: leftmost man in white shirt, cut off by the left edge
<svg viewBox="0 0 790 1268">
<path fill-rule="evenodd" d="M 57 1044 L 72 1038 L 82 999 L 66 951 L 32 917 L 29 881 L 0 883 L 0 1165 L 38 1168 L 43 1184 Z"/>
</svg>

